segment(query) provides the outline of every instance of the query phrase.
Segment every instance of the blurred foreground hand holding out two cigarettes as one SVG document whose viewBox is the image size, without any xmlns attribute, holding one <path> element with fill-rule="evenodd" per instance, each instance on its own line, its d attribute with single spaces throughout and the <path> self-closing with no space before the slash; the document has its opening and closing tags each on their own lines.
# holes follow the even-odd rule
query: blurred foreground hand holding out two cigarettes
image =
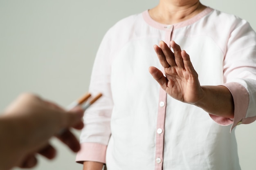
<svg viewBox="0 0 256 170">
<path fill-rule="evenodd" d="M 81 108 L 66 111 L 36 95 L 20 95 L 0 116 L 0 170 L 32 168 L 37 155 L 53 159 L 56 150 L 49 144 L 52 137 L 79 151 L 79 141 L 69 129 L 82 129 L 82 119 Z"/>
</svg>

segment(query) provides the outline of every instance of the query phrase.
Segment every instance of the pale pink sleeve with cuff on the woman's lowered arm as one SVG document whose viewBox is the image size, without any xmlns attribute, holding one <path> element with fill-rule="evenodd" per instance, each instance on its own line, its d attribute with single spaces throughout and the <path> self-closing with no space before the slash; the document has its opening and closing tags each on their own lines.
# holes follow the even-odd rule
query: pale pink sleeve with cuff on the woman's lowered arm
<svg viewBox="0 0 256 170">
<path fill-rule="evenodd" d="M 104 36 L 92 69 L 89 92 L 92 96 L 102 93 L 102 97 L 92 104 L 84 114 L 84 128 L 81 131 L 81 150 L 76 162 L 97 161 L 105 163 L 106 148 L 111 135 L 110 119 L 112 113 L 112 95 L 110 87 L 111 31 Z"/>
</svg>

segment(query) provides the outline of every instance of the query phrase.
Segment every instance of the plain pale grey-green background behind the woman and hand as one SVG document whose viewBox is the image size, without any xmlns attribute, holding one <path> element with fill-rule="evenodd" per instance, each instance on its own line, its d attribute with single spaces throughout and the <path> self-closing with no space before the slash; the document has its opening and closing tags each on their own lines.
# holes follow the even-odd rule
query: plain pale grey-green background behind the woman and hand
<svg viewBox="0 0 256 170">
<path fill-rule="evenodd" d="M 201 0 L 238 15 L 256 30 L 254 0 Z M 121 18 L 158 0 L 0 0 L 0 110 L 22 92 L 67 106 L 88 91 L 97 48 Z M 3 112 L 3 111 L 1 111 Z M 256 123 L 236 128 L 242 170 L 256 169 Z M 79 132 L 75 131 L 79 136 Z M 233 132 L 234 133 L 234 132 Z M 2 137 L 0 137 L 2 138 Z M 58 157 L 39 158 L 36 170 L 82 170 L 56 139 Z"/>
</svg>

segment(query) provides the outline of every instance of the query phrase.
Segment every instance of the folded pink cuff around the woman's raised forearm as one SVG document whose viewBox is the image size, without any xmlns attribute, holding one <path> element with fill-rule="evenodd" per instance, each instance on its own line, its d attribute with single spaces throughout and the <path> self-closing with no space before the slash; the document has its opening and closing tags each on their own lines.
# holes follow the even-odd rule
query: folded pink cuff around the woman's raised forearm
<svg viewBox="0 0 256 170">
<path fill-rule="evenodd" d="M 233 123 L 231 130 L 239 124 L 246 124 L 249 121 L 249 118 L 245 119 L 247 108 L 249 105 L 249 93 L 246 88 L 239 83 L 231 82 L 226 83 L 223 86 L 227 87 L 234 99 L 234 119 L 229 119 L 225 117 L 220 117 L 216 115 L 211 115 L 210 117 L 222 126 L 228 126 Z"/>
</svg>

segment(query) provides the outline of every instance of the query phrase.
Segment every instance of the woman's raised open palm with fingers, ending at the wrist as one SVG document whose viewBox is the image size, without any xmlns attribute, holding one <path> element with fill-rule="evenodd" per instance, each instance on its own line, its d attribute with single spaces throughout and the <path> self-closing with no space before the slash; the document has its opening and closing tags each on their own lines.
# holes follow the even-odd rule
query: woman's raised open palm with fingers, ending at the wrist
<svg viewBox="0 0 256 170">
<path fill-rule="evenodd" d="M 174 41 L 171 41 L 170 45 L 174 52 L 163 41 L 159 46 L 154 46 L 159 61 L 164 67 L 165 76 L 162 71 L 153 66 L 149 68 L 149 72 L 168 95 L 181 102 L 193 104 L 202 98 L 198 74 L 186 51 L 182 51 Z"/>
</svg>

